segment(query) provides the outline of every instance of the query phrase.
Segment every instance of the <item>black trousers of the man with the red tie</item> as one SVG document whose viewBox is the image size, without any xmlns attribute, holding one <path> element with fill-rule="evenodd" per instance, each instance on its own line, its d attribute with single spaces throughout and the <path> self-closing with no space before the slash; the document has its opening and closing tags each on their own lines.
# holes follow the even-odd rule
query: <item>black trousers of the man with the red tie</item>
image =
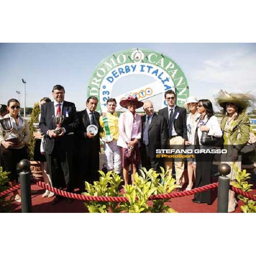
<svg viewBox="0 0 256 256">
<path fill-rule="evenodd" d="M 52 154 L 46 154 L 46 160 L 52 186 L 58 189 L 66 186 L 68 192 L 73 192 L 73 150 L 71 148 L 69 150 L 63 149 L 60 142 L 56 140 Z"/>
</svg>

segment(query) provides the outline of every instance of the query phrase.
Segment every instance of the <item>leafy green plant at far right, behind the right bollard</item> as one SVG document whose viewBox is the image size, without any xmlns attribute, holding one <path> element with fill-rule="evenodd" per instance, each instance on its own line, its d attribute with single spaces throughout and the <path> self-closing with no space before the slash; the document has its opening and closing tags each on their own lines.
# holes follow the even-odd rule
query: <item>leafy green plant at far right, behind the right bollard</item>
<svg viewBox="0 0 256 256">
<path fill-rule="evenodd" d="M 253 185 L 248 183 L 248 180 L 250 180 L 250 173 L 247 173 L 246 170 L 240 170 L 236 163 L 233 165 L 233 168 L 236 170 L 236 181 L 231 182 L 231 185 L 244 192 L 252 191 L 251 187 Z M 242 195 L 238 195 L 238 198 L 244 203 L 244 205 L 241 206 L 242 212 L 256 212 L 256 201 L 243 197 Z"/>
</svg>

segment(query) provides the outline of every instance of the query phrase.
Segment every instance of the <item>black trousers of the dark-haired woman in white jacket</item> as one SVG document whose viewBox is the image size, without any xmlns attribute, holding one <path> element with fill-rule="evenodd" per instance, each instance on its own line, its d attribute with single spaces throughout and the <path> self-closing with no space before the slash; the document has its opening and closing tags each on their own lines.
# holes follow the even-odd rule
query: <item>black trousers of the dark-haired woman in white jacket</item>
<svg viewBox="0 0 256 256">
<path fill-rule="evenodd" d="M 195 187 L 199 188 L 208 185 L 212 182 L 212 163 L 215 154 L 195 154 L 196 172 L 195 172 Z M 196 193 L 194 198 L 201 203 L 212 204 L 211 189 Z"/>
</svg>

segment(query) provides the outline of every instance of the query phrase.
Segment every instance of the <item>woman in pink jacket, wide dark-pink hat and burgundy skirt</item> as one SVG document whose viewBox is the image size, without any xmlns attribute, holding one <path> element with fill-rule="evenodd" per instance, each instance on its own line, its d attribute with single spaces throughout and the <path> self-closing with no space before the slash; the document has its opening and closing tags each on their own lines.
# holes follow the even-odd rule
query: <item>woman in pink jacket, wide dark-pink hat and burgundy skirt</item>
<svg viewBox="0 0 256 256">
<path fill-rule="evenodd" d="M 140 139 L 141 139 L 141 117 L 135 112 L 137 108 L 143 106 L 143 102 L 138 101 L 134 96 L 128 96 L 127 99 L 119 103 L 128 111 L 122 113 L 119 117 L 119 137 L 117 145 L 122 147 L 122 163 L 125 185 L 128 184 L 129 165 L 132 164 L 131 181 L 134 182 L 136 166 L 141 162 Z"/>
</svg>

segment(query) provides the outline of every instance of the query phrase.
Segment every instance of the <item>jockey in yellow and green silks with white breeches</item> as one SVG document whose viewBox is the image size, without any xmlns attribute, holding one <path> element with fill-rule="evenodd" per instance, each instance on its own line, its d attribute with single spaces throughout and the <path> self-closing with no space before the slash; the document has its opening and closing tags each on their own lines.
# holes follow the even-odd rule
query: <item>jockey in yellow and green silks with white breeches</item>
<svg viewBox="0 0 256 256">
<path fill-rule="evenodd" d="M 108 113 L 99 118 L 100 133 L 99 136 L 105 142 L 104 159 L 108 170 L 115 170 L 120 174 L 122 161 L 120 155 L 120 147 L 116 145 L 119 130 L 118 130 L 118 115 L 116 111 L 116 99 L 107 100 Z"/>
</svg>

